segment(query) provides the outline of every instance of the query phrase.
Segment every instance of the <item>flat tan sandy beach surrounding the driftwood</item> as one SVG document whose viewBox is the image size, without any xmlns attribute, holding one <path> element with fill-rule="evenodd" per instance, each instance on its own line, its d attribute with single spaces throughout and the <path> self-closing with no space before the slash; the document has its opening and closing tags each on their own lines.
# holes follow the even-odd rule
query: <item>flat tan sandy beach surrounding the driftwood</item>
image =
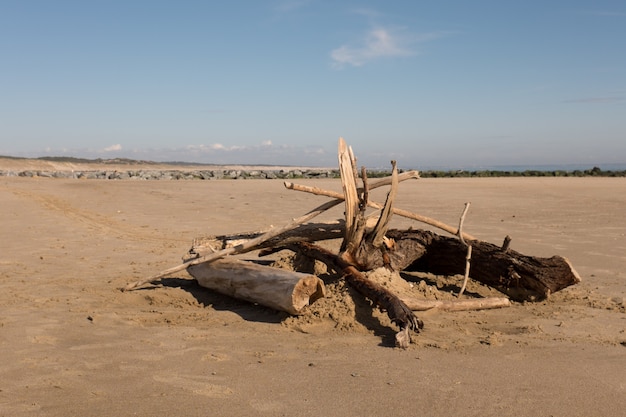
<svg viewBox="0 0 626 417">
<path fill-rule="evenodd" d="M 279 226 L 324 201 L 275 180 L 0 177 L 0 416 L 624 415 L 623 178 L 401 184 L 399 207 L 456 224 L 471 201 L 468 233 L 566 256 L 583 279 L 545 302 L 419 313 L 425 328 L 407 350 L 341 282 L 302 317 L 204 290 L 185 272 L 119 291 L 178 264 L 197 236 Z M 426 298 L 460 284 L 415 279 Z"/>
</svg>

